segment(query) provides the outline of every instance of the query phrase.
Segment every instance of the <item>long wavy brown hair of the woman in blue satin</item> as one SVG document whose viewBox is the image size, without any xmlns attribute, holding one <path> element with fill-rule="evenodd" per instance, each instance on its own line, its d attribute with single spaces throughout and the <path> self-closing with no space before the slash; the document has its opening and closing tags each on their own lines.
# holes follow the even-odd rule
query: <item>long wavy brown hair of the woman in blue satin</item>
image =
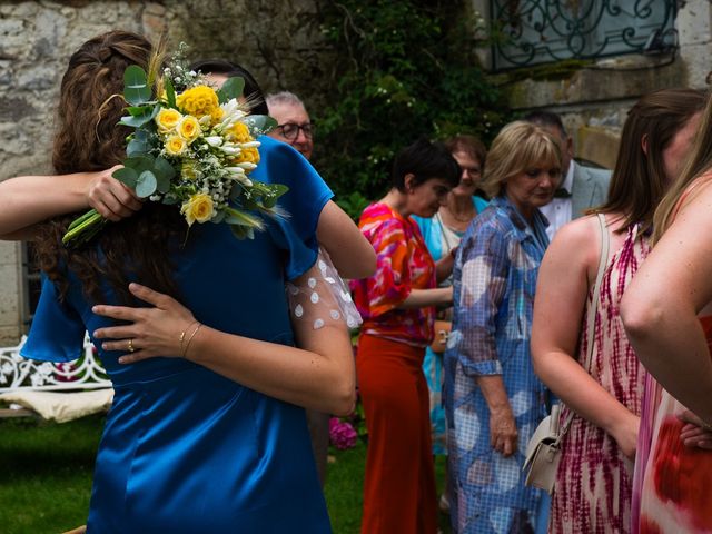
<svg viewBox="0 0 712 534">
<path fill-rule="evenodd" d="M 52 155 L 58 174 L 101 170 L 121 162 L 130 134 L 128 128 L 117 126 L 126 106 L 120 96 L 123 71 L 130 65 L 147 69 L 151 53 L 146 38 L 110 31 L 88 40 L 72 55 L 58 107 Z M 61 238 L 79 215 L 41 225 L 36 243 L 39 266 L 57 285 L 60 299 L 69 287 L 69 271 L 93 301 L 107 298 L 102 280 L 125 304 L 134 301 L 128 291 L 131 279 L 179 297 L 170 256 L 187 225 L 175 207 L 147 202 L 137 215 L 108 222 L 91 244 L 68 249 Z"/>
</svg>

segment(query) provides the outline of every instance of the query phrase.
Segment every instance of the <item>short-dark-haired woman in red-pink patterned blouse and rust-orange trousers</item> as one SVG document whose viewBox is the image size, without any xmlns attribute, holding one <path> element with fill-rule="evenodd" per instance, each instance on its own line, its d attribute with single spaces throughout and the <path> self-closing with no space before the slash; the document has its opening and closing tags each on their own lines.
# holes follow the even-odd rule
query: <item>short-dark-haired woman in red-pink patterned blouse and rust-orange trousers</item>
<svg viewBox="0 0 712 534">
<path fill-rule="evenodd" d="M 364 319 L 356 355 L 368 428 L 364 534 L 437 531 L 423 357 L 435 306 L 453 299 L 452 287 L 436 284 L 449 275 L 453 256 L 435 264 L 411 215 L 433 217 L 459 175 L 444 146 L 416 141 L 396 157 L 390 191 L 358 224 L 377 256 L 376 274 L 352 281 Z"/>
</svg>

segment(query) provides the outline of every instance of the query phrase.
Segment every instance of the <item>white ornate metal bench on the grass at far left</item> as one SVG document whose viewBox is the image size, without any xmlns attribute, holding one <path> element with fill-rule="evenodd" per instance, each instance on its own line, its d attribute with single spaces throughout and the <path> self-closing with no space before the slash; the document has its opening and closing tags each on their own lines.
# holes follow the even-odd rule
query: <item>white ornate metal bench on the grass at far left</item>
<svg viewBox="0 0 712 534">
<path fill-rule="evenodd" d="M 89 407 L 88 413 L 99 412 L 110 404 L 112 395 L 111 380 L 96 357 L 96 349 L 89 336 L 85 337 L 82 354 L 68 363 L 37 362 L 20 356 L 20 349 L 27 337 L 22 336 L 14 347 L 0 348 L 0 402 L 9 404 L 9 408 L 0 408 L 0 417 L 20 417 L 42 415 L 43 409 L 32 405 L 39 400 L 41 405 L 56 400 L 82 400 L 98 404 Z M 95 393 L 89 393 L 95 392 Z M 23 395 L 20 395 L 23 394 Z M 18 397 L 22 396 L 21 400 Z M 69 421 L 68 414 L 61 412 L 48 418 Z M 72 418 L 72 417 L 69 417 Z"/>
</svg>

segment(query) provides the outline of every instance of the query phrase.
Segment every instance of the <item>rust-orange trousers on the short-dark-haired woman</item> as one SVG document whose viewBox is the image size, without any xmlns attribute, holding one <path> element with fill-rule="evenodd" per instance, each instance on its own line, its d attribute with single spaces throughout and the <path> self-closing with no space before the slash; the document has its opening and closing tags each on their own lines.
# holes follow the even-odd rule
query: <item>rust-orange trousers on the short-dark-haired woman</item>
<svg viewBox="0 0 712 534">
<path fill-rule="evenodd" d="M 368 428 L 363 534 L 435 534 L 437 500 L 424 348 L 362 335 L 356 370 Z"/>
</svg>

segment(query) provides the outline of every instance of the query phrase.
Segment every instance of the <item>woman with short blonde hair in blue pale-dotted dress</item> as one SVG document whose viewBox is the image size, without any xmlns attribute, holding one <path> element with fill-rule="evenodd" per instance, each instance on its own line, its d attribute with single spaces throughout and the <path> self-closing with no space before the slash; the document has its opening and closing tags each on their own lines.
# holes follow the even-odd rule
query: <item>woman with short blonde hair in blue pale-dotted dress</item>
<svg viewBox="0 0 712 534">
<path fill-rule="evenodd" d="M 556 141 L 507 125 L 487 155 L 492 197 L 461 241 L 454 323 L 445 352 L 445 409 L 454 532 L 530 532 L 540 492 L 524 486 L 524 448 L 546 413 L 530 358 L 534 287 L 548 245 L 548 202 L 561 179 Z"/>
</svg>

